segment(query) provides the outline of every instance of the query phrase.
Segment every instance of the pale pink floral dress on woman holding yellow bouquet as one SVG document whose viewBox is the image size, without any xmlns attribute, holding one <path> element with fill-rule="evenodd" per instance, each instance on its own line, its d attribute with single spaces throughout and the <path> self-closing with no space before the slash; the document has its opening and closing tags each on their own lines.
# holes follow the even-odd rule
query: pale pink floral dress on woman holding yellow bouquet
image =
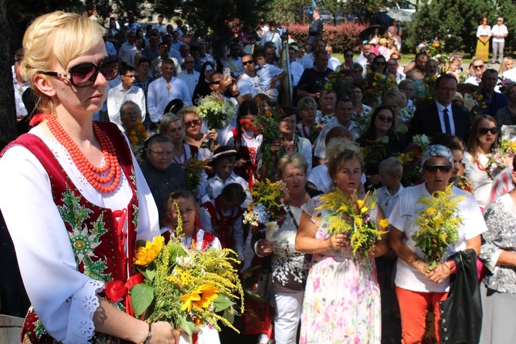
<svg viewBox="0 0 516 344">
<path fill-rule="evenodd" d="M 314 197 L 305 210 L 327 235 L 327 211 Z M 299 343 L 380 343 L 380 288 L 374 259 L 353 255 L 350 246 L 315 254 L 306 282 Z"/>
</svg>

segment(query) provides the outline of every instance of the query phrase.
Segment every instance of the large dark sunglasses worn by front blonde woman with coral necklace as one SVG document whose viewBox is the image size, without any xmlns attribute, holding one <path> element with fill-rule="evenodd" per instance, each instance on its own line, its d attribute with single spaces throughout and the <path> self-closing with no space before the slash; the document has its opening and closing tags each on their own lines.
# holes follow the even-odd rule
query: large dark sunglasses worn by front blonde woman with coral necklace
<svg viewBox="0 0 516 344">
<path fill-rule="evenodd" d="M 41 74 L 58 76 L 69 80 L 75 87 L 88 87 L 95 83 L 98 72 L 100 72 L 106 80 L 113 80 L 120 72 L 120 60 L 118 56 L 107 56 L 100 65 L 91 62 L 79 63 L 70 68 L 66 73 L 60 72 L 40 72 Z"/>
</svg>

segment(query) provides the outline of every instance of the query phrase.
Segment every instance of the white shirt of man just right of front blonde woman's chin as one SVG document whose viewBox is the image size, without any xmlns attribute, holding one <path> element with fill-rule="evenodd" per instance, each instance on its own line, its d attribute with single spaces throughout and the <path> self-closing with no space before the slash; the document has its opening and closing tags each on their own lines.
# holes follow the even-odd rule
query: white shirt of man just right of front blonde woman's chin
<svg viewBox="0 0 516 344">
<path fill-rule="evenodd" d="M 145 120 L 145 115 L 147 114 L 145 95 L 141 87 L 132 85 L 129 90 L 126 91 L 123 83 L 120 83 L 118 86 L 109 89 L 107 92 L 107 116 L 109 116 L 109 121 L 118 125 L 122 133 L 125 132 L 125 129 L 122 127 L 122 122 L 120 121 L 120 107 L 122 107 L 122 104 L 127 100 L 138 104 L 138 107 L 140 107 L 142 111 L 142 122 Z"/>
</svg>

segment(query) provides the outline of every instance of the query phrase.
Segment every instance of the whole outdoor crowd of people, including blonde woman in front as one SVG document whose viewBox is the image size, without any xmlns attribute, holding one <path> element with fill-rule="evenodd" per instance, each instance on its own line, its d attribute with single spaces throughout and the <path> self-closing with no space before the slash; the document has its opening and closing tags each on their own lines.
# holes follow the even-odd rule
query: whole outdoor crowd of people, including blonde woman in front
<svg viewBox="0 0 516 344">
<path fill-rule="evenodd" d="M 126 292 L 111 296 L 116 282 L 136 283 L 136 240 L 176 234 L 174 203 L 185 245 L 235 250 L 248 292 L 235 327 L 255 343 L 381 343 L 381 298 L 391 290 L 402 343 L 446 341 L 467 326 L 482 328 L 481 343 L 515 341 L 516 149 L 499 148 L 512 144 L 500 136 L 516 123 L 516 68 L 503 42 L 493 39 L 499 71 L 480 47 L 503 32 L 482 23 L 467 71 L 460 54 L 443 62 L 419 52 L 403 67 L 398 21 L 338 61 L 319 17 L 308 42 L 284 45 L 287 70 L 273 22 L 256 34 L 242 27 L 229 43 L 190 36 L 162 16 L 145 34 L 133 19 L 120 28 L 112 17 L 103 28 L 96 14 L 54 12 L 30 25 L 13 66 L 28 134 L 0 159 L 0 209 L 32 304 L 24 343 L 181 343 L 171 324 L 131 316 Z M 294 106 L 282 101 L 286 80 Z M 206 97 L 236 118 L 209 127 Z M 276 121 L 256 125 L 261 118 Z M 274 235 L 244 221 L 255 184 L 266 181 L 283 182 L 289 195 Z M 369 191 L 376 206 L 363 212 L 383 234 L 354 252 L 351 233 L 330 230 L 325 196 L 351 202 Z M 447 192 L 461 220 L 430 261 L 416 220 Z M 480 259 L 483 319 L 448 328 L 440 302 L 465 269 L 463 251 Z M 212 330 L 201 327 L 196 341 L 237 338 Z"/>
</svg>

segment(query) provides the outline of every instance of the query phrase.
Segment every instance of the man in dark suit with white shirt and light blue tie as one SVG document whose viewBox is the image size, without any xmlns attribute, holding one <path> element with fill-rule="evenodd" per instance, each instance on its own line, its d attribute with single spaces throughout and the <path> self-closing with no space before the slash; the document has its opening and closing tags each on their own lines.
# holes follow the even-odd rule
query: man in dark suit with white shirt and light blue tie
<svg viewBox="0 0 516 344">
<path fill-rule="evenodd" d="M 465 107 L 451 103 L 457 92 L 457 79 L 451 74 L 442 74 L 436 80 L 436 102 L 416 110 L 409 130 L 414 135 L 450 133 L 468 142 L 470 122 Z"/>
</svg>

